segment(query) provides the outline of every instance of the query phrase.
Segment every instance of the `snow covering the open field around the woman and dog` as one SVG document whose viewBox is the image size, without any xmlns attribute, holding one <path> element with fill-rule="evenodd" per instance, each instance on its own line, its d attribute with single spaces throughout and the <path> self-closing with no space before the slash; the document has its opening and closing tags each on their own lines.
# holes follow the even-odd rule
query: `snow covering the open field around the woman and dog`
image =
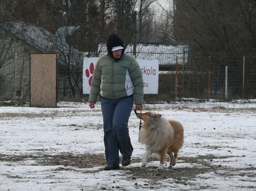
<svg viewBox="0 0 256 191">
<path fill-rule="evenodd" d="M 231 102 L 183 99 L 173 103 L 145 104 L 143 111 L 158 112 L 184 126 L 184 147 L 170 176 L 152 183 L 144 177 L 130 179 L 124 169 L 142 168 L 134 162 L 117 171 L 64 165 L 44 166 L 35 157 L 61 154 L 104 154 L 100 103 L 60 102 L 56 108 L 0 107 L 0 190 L 256 190 L 256 100 Z M 139 119 L 129 120 L 132 158 L 141 158 Z M 27 156 L 24 160 L 8 160 Z M 202 162 L 216 171 L 203 172 Z M 189 159 L 189 160 L 186 160 Z M 185 161 L 186 160 L 186 161 Z M 169 158 L 167 158 L 169 162 Z M 158 160 L 144 169 L 156 171 Z M 61 170 L 59 170 L 61 168 Z M 177 181 L 175 171 L 199 171 Z M 227 171 L 230 169 L 230 171 Z M 172 177 L 173 175 L 173 177 Z"/>
</svg>

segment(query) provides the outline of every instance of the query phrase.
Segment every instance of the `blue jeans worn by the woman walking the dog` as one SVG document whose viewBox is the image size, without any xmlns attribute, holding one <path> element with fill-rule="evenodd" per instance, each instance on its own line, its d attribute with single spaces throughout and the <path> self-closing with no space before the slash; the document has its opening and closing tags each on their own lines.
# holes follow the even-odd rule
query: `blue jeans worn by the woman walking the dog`
<svg viewBox="0 0 256 191">
<path fill-rule="evenodd" d="M 104 145 L 107 164 L 119 164 L 119 151 L 130 157 L 133 147 L 130 143 L 128 120 L 132 111 L 133 95 L 120 99 L 101 99 L 104 123 Z"/>
</svg>

